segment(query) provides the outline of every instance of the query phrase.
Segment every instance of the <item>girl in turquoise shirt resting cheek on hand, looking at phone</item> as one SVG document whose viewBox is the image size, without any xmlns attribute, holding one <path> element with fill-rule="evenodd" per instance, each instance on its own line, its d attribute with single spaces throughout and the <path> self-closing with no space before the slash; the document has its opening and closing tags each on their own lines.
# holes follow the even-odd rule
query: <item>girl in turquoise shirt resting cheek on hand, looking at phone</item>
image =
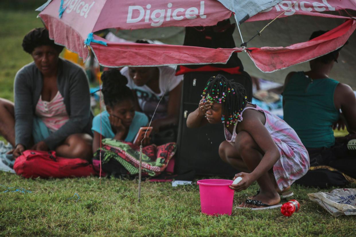
<svg viewBox="0 0 356 237">
<path fill-rule="evenodd" d="M 100 147 L 100 133 L 101 139 L 113 138 L 132 142 L 138 130 L 148 123 L 144 113 L 135 111 L 134 94 L 126 86 L 127 79 L 119 70 L 104 71 L 101 80 L 106 111 L 93 119 L 93 153 Z M 143 140 L 143 145 L 148 145 L 148 142 L 148 138 Z"/>
</svg>

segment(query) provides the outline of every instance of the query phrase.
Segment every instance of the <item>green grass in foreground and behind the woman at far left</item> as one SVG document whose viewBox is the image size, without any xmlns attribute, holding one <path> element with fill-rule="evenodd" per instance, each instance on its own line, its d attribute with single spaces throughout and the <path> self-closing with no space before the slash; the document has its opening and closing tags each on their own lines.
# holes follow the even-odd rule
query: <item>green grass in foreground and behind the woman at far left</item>
<svg viewBox="0 0 356 237">
<path fill-rule="evenodd" d="M 42 26 L 36 15 L 0 10 L 2 98 L 13 100 L 16 71 L 31 61 L 21 42 L 30 29 Z M 257 188 L 254 184 L 236 193 L 234 206 Z M 25 191 L 10 192 L 16 189 Z M 137 180 L 103 178 L 101 184 L 97 177 L 28 180 L 0 172 L 0 236 L 356 236 L 354 216 L 335 218 L 307 197 L 332 189 L 293 185 L 301 210 L 289 218 L 278 209 L 236 208 L 231 216 L 216 217 L 200 212 L 197 185 L 143 182 L 138 204 Z M 75 193 L 80 199 L 73 198 Z"/>
</svg>

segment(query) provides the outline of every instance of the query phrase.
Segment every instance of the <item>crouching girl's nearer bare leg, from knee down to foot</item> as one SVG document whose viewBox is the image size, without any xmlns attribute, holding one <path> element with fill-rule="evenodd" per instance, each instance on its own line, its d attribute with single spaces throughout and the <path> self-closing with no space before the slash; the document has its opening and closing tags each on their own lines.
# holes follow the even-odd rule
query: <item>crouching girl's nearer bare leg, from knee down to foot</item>
<svg viewBox="0 0 356 237">
<path fill-rule="evenodd" d="M 236 137 L 236 150 L 240 157 L 245 162 L 247 168 L 252 172 L 258 164 L 261 162 L 263 152 L 256 144 L 251 135 L 245 131 L 241 131 Z M 276 191 L 276 179 L 272 177 L 268 172 L 262 174 L 257 179 L 257 183 L 260 186 L 260 193 L 253 197 L 253 200 L 260 200 L 267 205 L 275 205 L 281 201 L 279 194 Z M 241 207 L 254 207 L 251 204 L 241 203 Z"/>
</svg>

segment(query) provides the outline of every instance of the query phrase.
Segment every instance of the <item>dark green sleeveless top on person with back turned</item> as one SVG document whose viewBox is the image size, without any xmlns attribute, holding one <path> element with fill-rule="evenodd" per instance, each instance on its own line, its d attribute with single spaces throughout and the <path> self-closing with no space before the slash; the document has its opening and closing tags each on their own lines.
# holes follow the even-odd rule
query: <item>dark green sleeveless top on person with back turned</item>
<svg viewBox="0 0 356 237">
<path fill-rule="evenodd" d="M 331 126 L 339 119 L 334 92 L 339 84 L 333 79 L 311 80 L 304 72 L 295 73 L 283 92 L 283 118 L 308 148 L 335 144 Z"/>
</svg>

